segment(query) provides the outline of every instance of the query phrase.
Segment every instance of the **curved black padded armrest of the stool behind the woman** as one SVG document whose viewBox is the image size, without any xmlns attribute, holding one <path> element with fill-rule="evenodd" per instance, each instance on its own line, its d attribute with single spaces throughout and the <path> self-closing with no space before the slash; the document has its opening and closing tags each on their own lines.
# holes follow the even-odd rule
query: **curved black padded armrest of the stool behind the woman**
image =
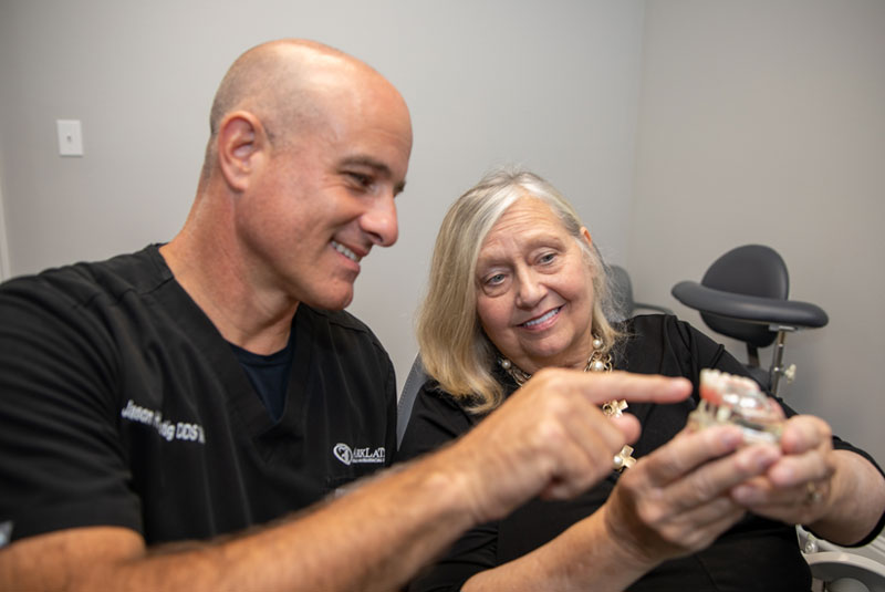
<svg viewBox="0 0 885 592">
<path fill-rule="evenodd" d="M 677 283 L 671 293 L 686 307 L 738 321 L 796 329 L 820 328 L 830 322 L 823 309 L 810 302 L 736 294 L 694 281 Z"/>
</svg>

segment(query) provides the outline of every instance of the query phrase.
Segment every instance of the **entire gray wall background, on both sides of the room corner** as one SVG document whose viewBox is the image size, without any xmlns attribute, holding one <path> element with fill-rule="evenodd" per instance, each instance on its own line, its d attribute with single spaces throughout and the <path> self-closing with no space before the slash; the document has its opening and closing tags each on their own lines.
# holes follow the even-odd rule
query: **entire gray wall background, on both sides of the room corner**
<svg viewBox="0 0 885 592">
<path fill-rule="evenodd" d="M 314 38 L 375 65 L 412 108 L 400 242 L 365 261 L 352 305 L 400 383 L 446 207 L 488 167 L 517 162 L 576 202 L 638 298 L 698 325 L 673 283 L 735 245 L 779 249 L 793 297 L 831 315 L 790 340 L 800 373 L 788 399 L 885 458 L 883 11 L 878 0 L 4 0 L 0 272 L 168 240 L 226 67 L 261 41 Z M 85 157 L 58 156 L 56 118 L 83 122 Z"/>
</svg>

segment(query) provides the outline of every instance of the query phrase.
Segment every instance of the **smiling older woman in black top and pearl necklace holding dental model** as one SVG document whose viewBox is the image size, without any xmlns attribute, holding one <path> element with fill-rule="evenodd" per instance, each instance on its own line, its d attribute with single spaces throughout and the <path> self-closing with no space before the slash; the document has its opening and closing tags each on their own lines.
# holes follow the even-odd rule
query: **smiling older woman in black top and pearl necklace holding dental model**
<svg viewBox="0 0 885 592">
<path fill-rule="evenodd" d="M 738 447 L 732 426 L 685 428 L 700 370 L 746 374 L 742 365 L 674 316 L 612 324 L 607 302 L 590 232 L 543 179 L 498 172 L 452 205 L 418 323 L 433 380 L 399 459 L 471 429 L 550 366 L 684 376 L 695 392 L 631 404 L 623 413 L 642 436 L 615 457 L 629 468 L 574 500 L 535 499 L 473 529 L 413 589 L 809 590 L 791 525 L 841 544 L 879 532 L 885 479 L 866 454 L 787 406 L 779 446 Z"/>
</svg>

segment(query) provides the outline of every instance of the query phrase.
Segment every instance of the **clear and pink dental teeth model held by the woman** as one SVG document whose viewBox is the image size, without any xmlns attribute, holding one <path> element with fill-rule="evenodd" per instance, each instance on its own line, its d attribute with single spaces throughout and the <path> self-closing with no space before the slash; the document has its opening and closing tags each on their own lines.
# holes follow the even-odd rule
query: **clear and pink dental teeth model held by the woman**
<svg viewBox="0 0 885 592">
<path fill-rule="evenodd" d="M 718 370 L 700 371 L 700 404 L 688 416 L 695 429 L 733 424 L 747 444 L 780 442 L 783 412 L 750 378 Z"/>
</svg>

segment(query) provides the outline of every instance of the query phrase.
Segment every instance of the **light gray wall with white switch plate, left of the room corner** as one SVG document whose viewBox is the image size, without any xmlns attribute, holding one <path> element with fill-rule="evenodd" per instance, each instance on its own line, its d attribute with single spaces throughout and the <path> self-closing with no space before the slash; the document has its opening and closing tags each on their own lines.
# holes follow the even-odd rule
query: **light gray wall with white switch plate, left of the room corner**
<svg viewBox="0 0 885 592">
<path fill-rule="evenodd" d="M 121 2 L 0 4 L 0 180 L 11 273 L 102 259 L 175 235 L 196 187 L 216 86 L 261 41 L 322 40 L 406 97 L 415 146 L 400 240 L 373 251 L 352 311 L 402 380 L 413 311 L 447 206 L 490 166 L 521 163 L 573 196 L 624 257 L 642 2 Z M 58 156 L 56 118 L 83 122 Z"/>
</svg>

